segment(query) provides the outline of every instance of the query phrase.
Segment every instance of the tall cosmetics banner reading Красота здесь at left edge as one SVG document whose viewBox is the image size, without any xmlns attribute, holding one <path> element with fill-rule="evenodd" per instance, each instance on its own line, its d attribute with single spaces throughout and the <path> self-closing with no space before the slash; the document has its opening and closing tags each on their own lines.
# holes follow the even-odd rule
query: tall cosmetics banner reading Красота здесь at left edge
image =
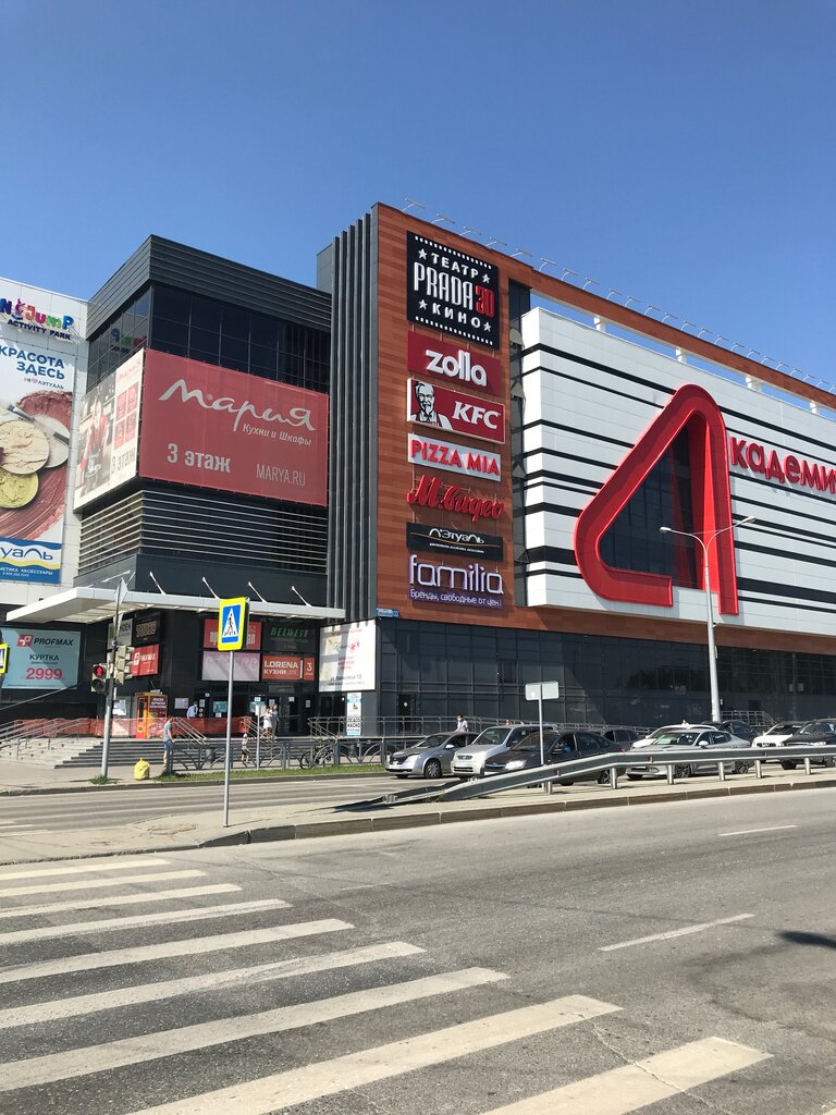
<svg viewBox="0 0 836 1115">
<path fill-rule="evenodd" d="M 11 311 L 17 306 L 0 303 Z M 35 324 L 25 320 L 29 310 Z M 22 303 L 20 320 L 0 313 L 0 580 L 54 584 L 60 579 L 76 345 L 52 339 L 65 332 L 37 324 L 40 317 L 46 322 L 52 316 Z"/>
</svg>

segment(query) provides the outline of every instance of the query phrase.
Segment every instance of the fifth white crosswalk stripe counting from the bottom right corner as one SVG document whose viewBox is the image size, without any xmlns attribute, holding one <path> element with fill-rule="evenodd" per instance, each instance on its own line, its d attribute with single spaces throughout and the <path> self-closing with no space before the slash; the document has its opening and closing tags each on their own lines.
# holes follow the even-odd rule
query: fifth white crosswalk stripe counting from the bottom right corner
<svg viewBox="0 0 836 1115">
<path fill-rule="evenodd" d="M 111 949 L 107 952 L 87 952 L 80 957 L 61 957 L 58 960 L 38 960 L 19 968 L 0 968 L 0 983 L 16 983 L 25 979 L 41 979 L 45 976 L 66 976 L 68 972 L 94 971 L 99 968 L 117 968 L 119 964 L 138 964 L 146 960 L 162 960 L 168 957 L 189 957 L 197 952 L 217 952 L 221 949 L 239 949 L 252 944 L 269 944 L 273 941 L 290 941 L 297 937 L 315 937 L 318 933 L 338 933 L 354 927 L 333 918 L 324 921 L 302 921 L 294 925 L 275 925 L 272 929 L 250 929 L 239 933 L 218 933 L 215 937 L 192 937 L 187 941 L 162 941 L 136 949 Z"/>
</svg>

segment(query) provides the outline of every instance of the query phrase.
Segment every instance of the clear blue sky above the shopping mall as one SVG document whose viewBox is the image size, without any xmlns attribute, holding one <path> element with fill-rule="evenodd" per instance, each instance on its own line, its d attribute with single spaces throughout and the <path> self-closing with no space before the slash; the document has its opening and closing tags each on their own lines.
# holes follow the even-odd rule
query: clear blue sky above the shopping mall
<svg viewBox="0 0 836 1115">
<path fill-rule="evenodd" d="M 155 232 L 312 283 L 409 196 L 836 381 L 834 0 L 33 0 L 3 27 L 12 279 L 87 297 Z"/>
</svg>

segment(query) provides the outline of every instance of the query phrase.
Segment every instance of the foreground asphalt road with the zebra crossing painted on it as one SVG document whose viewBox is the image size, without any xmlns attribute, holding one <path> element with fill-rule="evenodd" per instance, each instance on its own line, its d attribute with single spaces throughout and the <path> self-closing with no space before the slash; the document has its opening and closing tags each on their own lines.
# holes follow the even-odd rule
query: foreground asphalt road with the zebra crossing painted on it
<svg viewBox="0 0 836 1115">
<path fill-rule="evenodd" d="M 824 1115 L 833 812 L 808 791 L 2 867 L 0 1112 Z"/>
</svg>

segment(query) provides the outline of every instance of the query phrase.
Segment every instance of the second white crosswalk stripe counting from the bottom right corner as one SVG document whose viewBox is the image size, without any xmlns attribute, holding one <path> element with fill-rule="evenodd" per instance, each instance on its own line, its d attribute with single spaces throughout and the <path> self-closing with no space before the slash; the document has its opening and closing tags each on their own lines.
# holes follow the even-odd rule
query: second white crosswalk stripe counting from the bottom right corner
<svg viewBox="0 0 836 1115">
<path fill-rule="evenodd" d="M 573 1026 L 620 1009 L 584 995 L 571 995 L 537 1006 L 521 1007 L 502 1015 L 489 1015 L 487 1018 L 448 1026 L 429 1034 L 418 1034 L 372 1049 L 361 1049 L 332 1060 L 303 1065 L 301 1068 L 218 1088 L 216 1092 L 204 1092 L 203 1095 L 187 1099 L 135 1109 L 132 1115 L 217 1115 L 218 1112 L 268 1115 L 294 1104 L 333 1096 L 377 1080 L 388 1080 L 404 1073 L 441 1065 L 467 1054 L 495 1049 L 509 1041 L 562 1026 Z M 237 1027 L 237 1020 L 235 1026 Z"/>
</svg>

